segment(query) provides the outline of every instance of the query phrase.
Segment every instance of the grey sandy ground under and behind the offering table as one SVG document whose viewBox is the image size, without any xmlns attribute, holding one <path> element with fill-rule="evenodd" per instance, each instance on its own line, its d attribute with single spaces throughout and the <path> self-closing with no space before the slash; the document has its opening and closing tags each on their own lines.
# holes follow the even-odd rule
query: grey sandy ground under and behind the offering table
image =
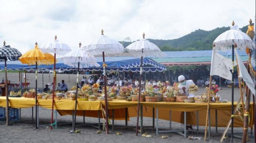
<svg viewBox="0 0 256 143">
<path fill-rule="evenodd" d="M 4 77 L 4 73 L 0 73 L 0 78 Z M 75 84 L 75 78 L 76 75 L 70 75 L 69 82 L 69 75 L 65 74 L 58 74 L 57 75 L 58 81 L 61 79 L 64 79 L 66 84 L 69 88 Z M 18 83 L 18 73 L 8 73 L 8 79 L 11 81 L 15 81 Z M 34 74 L 29 73 L 28 75 L 29 82 L 31 82 L 30 88 L 34 88 Z M 38 75 L 38 86 L 42 88 L 42 74 Z M 40 80 L 41 79 L 41 80 Z M 80 75 L 80 79 L 82 79 L 82 75 Z M 52 82 L 52 74 L 51 74 L 51 81 Z M 44 84 L 49 83 L 49 74 L 44 74 Z M 198 94 L 201 94 L 204 92 L 204 88 L 200 88 Z M 231 88 L 225 88 L 223 87 L 220 91 L 220 96 L 222 99 L 227 99 L 228 101 L 231 101 Z M 234 101 L 238 101 L 240 98 L 239 95 L 239 88 L 234 89 Z M 40 124 L 48 124 L 51 119 L 51 111 L 48 109 L 44 109 L 42 107 L 40 109 Z M 35 114 L 35 113 L 34 113 Z M 90 118 L 86 117 L 85 122 L 86 123 L 97 123 L 97 118 Z M 115 129 L 113 132 L 110 130 L 109 134 L 105 134 L 104 131 L 102 131 L 102 134 L 96 134 L 97 129 L 89 126 L 77 126 L 77 129 L 79 129 L 80 133 L 70 133 L 69 130 L 72 129 L 72 117 L 71 116 L 59 116 L 58 115 L 58 123 L 70 123 L 69 125 L 60 125 L 58 126 L 58 129 L 50 130 L 48 126 L 45 127 L 39 127 L 39 129 L 35 129 L 34 122 L 31 121 L 31 108 L 28 109 L 22 109 L 22 119 L 20 122 L 16 122 L 11 124 L 10 126 L 5 125 L 5 121 L 0 121 L 0 132 L 1 132 L 1 138 L 0 143 L 14 143 L 14 142 L 20 142 L 20 143 L 45 143 L 45 142 L 52 142 L 52 143 L 73 143 L 73 142 L 85 142 L 85 143 L 92 143 L 92 142 L 102 142 L 102 143 L 113 143 L 113 142 L 121 142 L 121 143 L 155 143 L 155 142 L 180 142 L 180 143 L 187 143 L 187 142 L 204 142 L 203 136 L 204 136 L 204 127 L 200 126 L 200 133 L 196 134 L 194 133 L 188 133 L 188 135 L 192 135 L 195 137 L 202 137 L 201 140 L 189 140 L 188 138 L 184 139 L 183 136 L 176 134 L 176 133 L 163 133 L 160 134 L 160 136 L 156 136 L 155 130 L 152 131 L 152 129 L 147 129 L 145 132 L 148 134 L 151 134 L 152 138 L 145 138 L 142 137 L 140 134 L 139 136 L 135 136 L 136 132 L 132 129 Z M 82 124 L 83 118 L 77 117 L 77 123 Z M 159 126 L 161 129 L 167 129 L 169 127 L 169 121 L 160 120 Z M 125 125 L 125 121 L 115 121 L 115 125 Z M 130 121 L 128 122 L 128 126 L 135 126 L 136 125 L 136 118 L 130 118 Z M 143 126 L 150 126 L 152 125 L 152 118 L 143 118 Z M 173 129 L 183 129 L 183 125 L 180 123 L 172 122 L 172 128 Z M 195 128 L 195 127 L 194 127 Z M 110 128 L 111 129 L 111 128 Z M 223 133 L 223 130 L 225 128 L 218 128 L 218 132 L 220 134 Z M 215 128 L 211 128 L 212 133 L 215 133 Z M 229 130 L 230 131 L 230 130 Z M 249 130 L 250 131 L 250 130 Z M 122 132 L 122 135 L 118 136 L 116 135 L 116 132 Z M 242 128 L 234 128 L 234 132 L 239 133 L 242 132 Z M 208 142 L 214 143 L 218 142 L 220 140 L 220 134 L 214 134 L 212 135 L 211 139 Z M 161 135 L 167 135 L 169 138 L 162 139 Z M 241 134 L 239 134 L 241 135 Z M 230 137 L 225 139 L 223 142 L 230 142 Z M 234 142 L 241 142 L 241 139 L 234 138 Z M 253 138 L 250 138 L 251 143 L 254 142 Z"/>
</svg>

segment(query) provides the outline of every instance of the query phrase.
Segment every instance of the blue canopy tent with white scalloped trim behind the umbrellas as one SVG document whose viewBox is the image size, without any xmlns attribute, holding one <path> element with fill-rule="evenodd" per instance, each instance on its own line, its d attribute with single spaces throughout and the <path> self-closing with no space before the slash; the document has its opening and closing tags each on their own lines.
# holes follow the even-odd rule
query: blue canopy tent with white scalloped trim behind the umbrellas
<svg viewBox="0 0 256 143">
<path fill-rule="evenodd" d="M 103 62 L 98 62 L 100 64 L 100 67 L 89 67 L 89 68 L 82 68 L 84 71 L 103 71 L 102 64 Z M 133 59 L 125 59 L 122 61 L 109 61 L 105 62 L 107 64 L 107 71 L 140 71 L 139 65 L 140 65 L 140 58 L 133 58 Z M 146 65 L 143 67 L 144 72 L 156 72 L 156 71 L 164 71 L 166 70 L 165 66 L 163 66 L 160 63 L 155 62 L 154 60 L 146 57 L 143 60 L 143 64 Z M 22 64 L 20 61 L 7 61 L 7 69 L 8 70 L 34 70 L 34 65 L 27 65 Z M 44 70 L 52 70 L 53 65 L 40 65 L 38 66 L 38 69 L 44 69 Z M 4 62 L 0 62 L 0 70 L 4 70 Z M 76 70 L 76 68 L 70 67 L 62 63 L 61 59 L 58 59 L 58 62 L 56 63 L 56 70 Z"/>
</svg>

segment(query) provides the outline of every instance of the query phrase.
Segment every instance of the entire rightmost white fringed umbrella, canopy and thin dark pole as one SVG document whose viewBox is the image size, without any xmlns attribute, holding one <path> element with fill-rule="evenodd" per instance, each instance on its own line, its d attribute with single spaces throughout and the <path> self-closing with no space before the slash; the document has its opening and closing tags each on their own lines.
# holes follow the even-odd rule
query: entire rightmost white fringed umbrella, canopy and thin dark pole
<svg viewBox="0 0 256 143">
<path fill-rule="evenodd" d="M 216 50 L 231 50 L 232 49 L 232 115 L 234 114 L 234 48 L 239 48 L 241 50 L 245 50 L 245 48 L 253 49 L 255 48 L 255 44 L 252 43 L 251 38 L 241 32 L 237 25 L 234 25 L 234 21 L 232 22 L 232 27 L 230 30 L 223 32 L 220 34 L 213 42 L 213 47 Z M 209 108 L 208 108 L 209 109 Z M 208 116 L 208 114 L 207 114 Z M 234 118 L 231 116 L 231 142 L 233 142 L 233 126 L 234 126 Z M 207 125 L 205 126 L 207 128 Z M 205 133 L 206 140 L 206 133 Z"/>
</svg>

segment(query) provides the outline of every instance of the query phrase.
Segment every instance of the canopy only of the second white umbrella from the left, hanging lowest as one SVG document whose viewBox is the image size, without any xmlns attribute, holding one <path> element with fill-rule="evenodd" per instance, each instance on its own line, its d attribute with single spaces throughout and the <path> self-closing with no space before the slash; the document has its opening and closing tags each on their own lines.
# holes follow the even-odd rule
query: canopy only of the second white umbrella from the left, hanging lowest
<svg viewBox="0 0 256 143">
<path fill-rule="evenodd" d="M 79 43 L 78 50 L 68 52 L 64 55 L 62 59 L 64 64 L 76 68 L 78 67 L 78 62 L 80 63 L 80 68 L 87 68 L 89 66 L 100 66 L 100 64 L 96 62 L 96 59 L 92 54 L 89 54 L 88 52 L 82 50 L 81 43 Z"/>
</svg>

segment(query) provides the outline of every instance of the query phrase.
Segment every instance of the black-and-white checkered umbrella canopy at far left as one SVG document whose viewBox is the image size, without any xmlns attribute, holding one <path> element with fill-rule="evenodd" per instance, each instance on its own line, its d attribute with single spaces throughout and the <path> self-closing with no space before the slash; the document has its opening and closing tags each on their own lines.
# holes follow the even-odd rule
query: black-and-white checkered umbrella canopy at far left
<svg viewBox="0 0 256 143">
<path fill-rule="evenodd" d="M 18 61 L 19 57 L 22 54 L 20 51 L 18 51 L 16 48 L 12 48 L 9 45 L 5 45 L 4 41 L 4 46 L 0 48 L 0 59 L 1 60 L 10 60 L 10 61 Z"/>
</svg>

